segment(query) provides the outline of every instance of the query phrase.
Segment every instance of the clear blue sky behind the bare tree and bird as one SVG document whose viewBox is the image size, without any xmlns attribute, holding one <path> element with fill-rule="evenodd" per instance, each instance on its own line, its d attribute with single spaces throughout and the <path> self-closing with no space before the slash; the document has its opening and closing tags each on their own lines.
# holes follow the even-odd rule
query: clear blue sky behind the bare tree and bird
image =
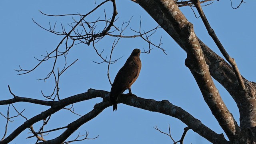
<svg viewBox="0 0 256 144">
<path fill-rule="evenodd" d="M 234 1 L 234 0 L 233 0 Z M 41 55 L 46 55 L 46 50 L 50 52 L 55 49 L 62 36 L 56 36 L 45 30 L 42 30 L 33 23 L 32 18 L 44 26 L 49 28 L 49 22 L 54 24 L 57 22 L 57 28 L 60 30 L 60 22 L 65 24 L 72 22 L 71 17 L 48 17 L 40 14 L 40 11 L 46 14 L 86 14 L 101 1 L 96 0 L 2 0 L 0 2 L 0 100 L 12 98 L 8 91 L 10 85 L 12 92 L 17 96 L 36 98 L 43 100 L 41 90 L 44 94 L 49 95 L 54 88 L 52 78 L 46 82 L 38 81 L 37 79 L 44 78 L 52 66 L 52 61 L 46 62 L 38 67 L 35 71 L 17 76 L 14 69 L 18 69 L 18 65 L 24 69 L 30 69 L 37 64 L 36 58 L 42 58 Z M 239 1 L 240 2 L 240 1 Z M 256 40 L 256 1 L 247 0 L 246 4 L 242 4 L 240 8 L 233 10 L 229 0 L 214 1 L 210 6 L 203 7 L 203 10 L 210 22 L 212 28 L 216 32 L 220 41 L 226 48 L 227 52 L 235 58 L 236 63 L 242 76 L 249 81 L 256 81 L 255 62 L 256 49 L 254 41 Z M 132 16 L 130 27 L 138 30 L 140 16 L 142 18 L 142 30 L 150 30 L 158 24 L 142 9 L 138 4 L 130 0 L 117 0 L 118 21 L 117 27 L 121 27 L 122 22 L 128 21 Z M 233 2 L 234 6 L 238 3 Z M 96 20 L 99 16 L 104 19 L 104 9 L 107 18 L 111 18 L 112 6 L 106 4 L 87 20 Z M 208 36 L 200 18 L 195 18 L 190 7 L 180 8 L 190 22 L 194 24 L 196 35 L 207 44 L 217 54 L 220 54 L 213 40 Z M 68 26 L 66 25 L 66 28 Z M 135 34 L 128 28 L 124 35 Z M 162 35 L 162 48 L 166 50 L 165 55 L 162 50 L 154 48 L 150 54 L 141 54 L 142 69 L 137 81 L 132 85 L 132 92 L 142 98 L 150 98 L 154 100 L 168 100 L 176 106 L 180 106 L 195 118 L 198 118 L 203 124 L 217 132 L 223 133 L 223 130 L 218 125 L 214 116 L 211 114 L 208 106 L 202 98 L 202 94 L 196 81 L 194 80 L 189 69 L 184 65 L 186 53 L 172 40 L 170 36 L 159 29 L 154 36 L 152 42 L 158 44 Z M 110 49 L 114 38 L 106 36 L 96 46 L 100 50 L 104 49 L 103 55 L 110 54 Z M 148 44 L 140 38 L 121 39 L 117 44 L 113 58 L 122 57 L 118 62 L 110 66 L 110 78 L 113 82 L 118 70 L 123 66 L 124 62 L 130 56 L 134 48 L 147 49 Z M 75 94 L 86 92 L 89 88 L 98 90 L 110 91 L 110 83 L 107 77 L 107 64 L 95 64 L 93 61 L 101 62 L 92 46 L 77 45 L 72 48 L 68 54 L 68 64 L 79 59 L 72 67 L 70 67 L 60 79 L 60 98 L 66 98 Z M 63 61 L 58 62 L 58 66 L 62 65 Z M 216 83 L 220 95 L 228 106 L 229 110 L 234 115 L 239 124 L 239 112 L 236 104 L 226 90 Z M 127 93 L 127 91 L 125 92 Z M 80 115 L 84 115 L 96 103 L 101 102 L 101 98 L 88 100 L 74 104 L 74 110 Z M 48 106 L 38 106 L 36 104 L 28 104 L 24 102 L 15 103 L 14 106 L 22 111 L 27 118 L 40 114 L 47 110 Z M 8 106 L 0 106 L 0 112 L 6 114 Z M 11 108 L 10 116 L 15 116 L 16 112 Z M 60 110 L 54 114 L 45 130 L 66 126 L 73 122 L 79 116 L 72 114 L 68 110 Z M 8 134 L 15 130 L 25 119 L 17 117 L 9 123 Z M 0 116 L 0 137 L 4 132 L 4 124 L 6 119 Z M 40 128 L 42 122 L 34 124 L 34 128 Z M 170 124 L 173 138 L 178 141 L 183 133 L 185 124 L 176 118 L 141 110 L 124 104 L 118 104 L 118 110 L 112 111 L 112 107 L 106 108 L 96 118 L 90 120 L 81 126 L 68 140 L 74 139 L 78 133 L 84 134 L 85 130 L 89 132 L 88 138 L 93 138 L 99 135 L 95 140 L 86 140 L 87 144 L 130 144 L 130 143 L 172 143 L 168 136 L 161 134 L 153 128 L 157 125 L 164 132 L 168 132 L 168 124 Z M 11 144 L 35 143 L 35 138 L 26 139 L 29 130 L 25 130 L 15 138 Z M 46 140 L 50 140 L 59 136 L 63 130 L 52 132 L 44 136 Z M 84 143 L 84 142 L 76 142 Z M 207 140 L 189 130 L 185 140 L 185 144 L 208 144 Z"/>
</svg>

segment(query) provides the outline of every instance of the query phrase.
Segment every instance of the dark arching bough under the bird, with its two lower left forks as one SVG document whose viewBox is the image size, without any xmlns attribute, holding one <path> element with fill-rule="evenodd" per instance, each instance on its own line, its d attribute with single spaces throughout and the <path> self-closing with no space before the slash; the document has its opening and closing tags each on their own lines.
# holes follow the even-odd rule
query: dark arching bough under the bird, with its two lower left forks
<svg viewBox="0 0 256 144">
<path fill-rule="evenodd" d="M 110 95 L 110 92 L 107 92 L 107 91 L 89 89 L 88 92 L 77 94 L 75 96 L 70 96 L 63 100 L 56 101 L 54 102 L 54 105 L 52 105 L 52 107 L 49 108 L 48 110 L 41 112 L 40 114 L 24 122 L 24 124 L 22 124 L 16 130 L 14 130 L 14 132 L 12 132 L 7 138 L 5 138 L 2 142 L 0 142 L 0 144 L 6 144 L 11 142 L 14 138 L 16 138 L 16 136 L 18 136 L 26 128 L 29 128 L 32 124 L 47 118 L 48 116 L 54 114 L 58 110 L 61 110 L 65 106 L 68 106 L 70 104 L 80 102 L 83 100 L 89 100 L 91 98 L 96 98 L 96 97 L 103 98 L 103 102 L 96 104 L 94 106 L 94 109 L 91 112 L 89 112 L 88 114 L 85 114 L 81 118 L 78 118 L 76 121 L 68 125 L 67 130 L 65 130 L 65 132 L 58 137 L 58 138 L 61 138 L 62 142 L 64 142 L 64 140 L 66 140 L 66 138 L 68 138 L 68 136 L 70 136 L 82 124 L 93 119 L 100 112 L 102 112 L 102 110 L 112 105 L 109 100 L 109 95 Z M 190 115 L 188 112 L 186 112 L 182 108 L 178 106 L 174 106 L 167 100 L 162 100 L 161 102 L 158 102 L 151 99 L 139 98 L 135 95 L 128 96 L 127 94 L 122 94 L 118 96 L 118 100 L 119 100 L 119 103 L 124 103 L 130 106 L 142 108 L 144 110 L 149 110 L 152 112 L 160 112 L 162 114 L 166 114 L 166 115 L 178 118 L 179 120 L 184 122 L 186 125 L 188 125 L 192 130 L 194 130 L 194 132 L 200 134 L 201 136 L 203 136 L 204 138 L 206 138 L 212 143 L 218 143 L 218 144 L 227 143 L 227 140 L 224 138 L 223 134 L 216 134 L 214 131 L 210 130 L 208 127 L 202 124 L 200 120 L 194 118 L 192 115 Z M 46 141 L 45 143 L 47 142 L 49 141 Z"/>
</svg>

